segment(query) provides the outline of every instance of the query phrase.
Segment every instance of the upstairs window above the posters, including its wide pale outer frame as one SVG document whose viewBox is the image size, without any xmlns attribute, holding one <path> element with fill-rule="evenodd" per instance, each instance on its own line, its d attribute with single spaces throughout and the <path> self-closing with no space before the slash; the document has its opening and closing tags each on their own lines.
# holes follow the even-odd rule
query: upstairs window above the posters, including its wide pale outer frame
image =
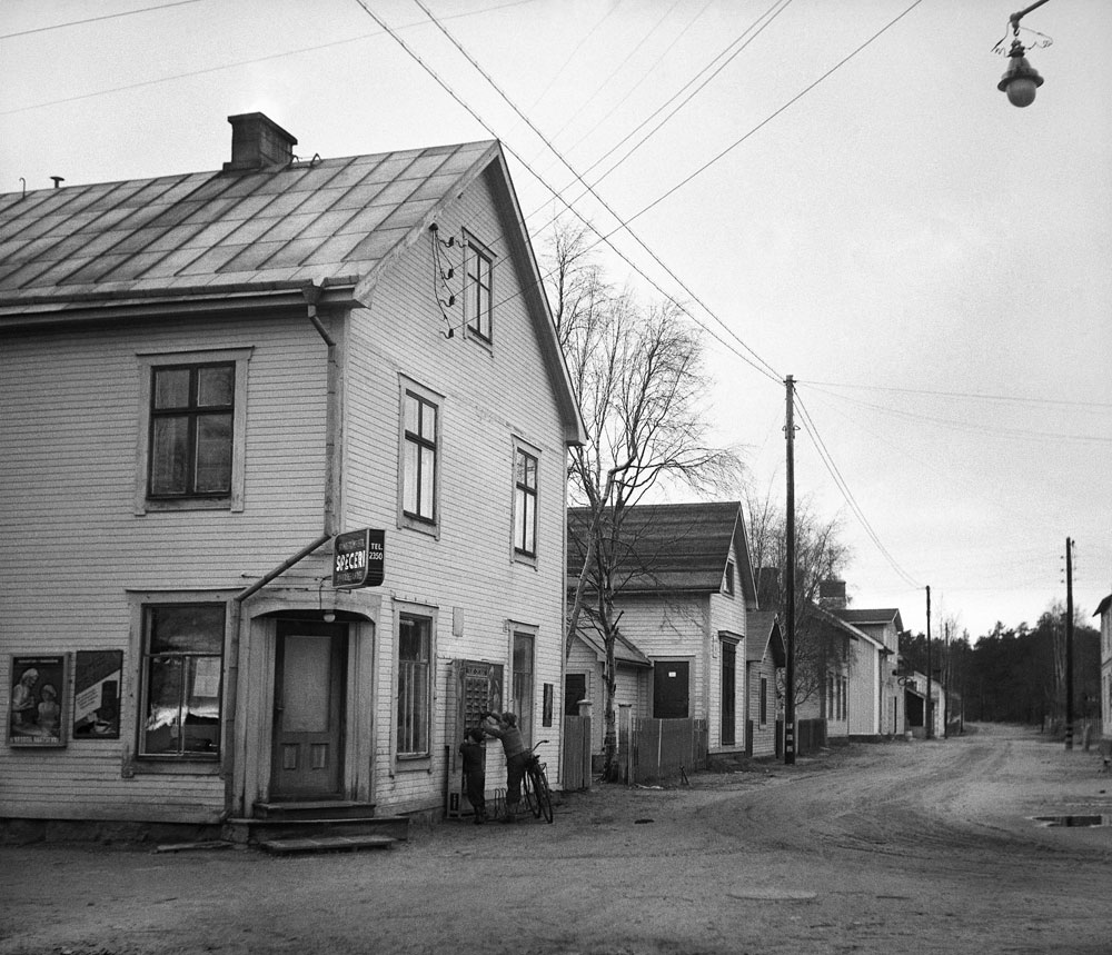
<svg viewBox="0 0 1112 955">
<path fill-rule="evenodd" d="M 140 355 L 136 514 L 242 510 L 250 349 Z"/>
</svg>

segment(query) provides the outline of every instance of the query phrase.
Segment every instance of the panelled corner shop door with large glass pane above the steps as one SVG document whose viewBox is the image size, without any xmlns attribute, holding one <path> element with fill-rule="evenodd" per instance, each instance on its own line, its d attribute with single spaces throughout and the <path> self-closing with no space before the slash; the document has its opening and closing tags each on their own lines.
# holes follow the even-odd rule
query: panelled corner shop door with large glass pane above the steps
<svg viewBox="0 0 1112 955">
<path fill-rule="evenodd" d="M 274 798 L 340 795 L 346 660 L 346 625 L 279 621 L 270 780 Z"/>
</svg>

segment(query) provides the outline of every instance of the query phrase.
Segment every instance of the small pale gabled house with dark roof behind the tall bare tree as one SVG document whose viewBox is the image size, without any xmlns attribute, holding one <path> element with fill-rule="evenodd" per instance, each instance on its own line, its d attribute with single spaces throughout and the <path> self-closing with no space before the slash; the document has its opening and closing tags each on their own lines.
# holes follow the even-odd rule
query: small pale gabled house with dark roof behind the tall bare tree
<svg viewBox="0 0 1112 955">
<path fill-rule="evenodd" d="M 569 596 L 584 569 L 589 524 L 589 509 L 568 508 Z M 743 753 L 745 641 L 757 605 L 741 505 L 638 505 L 625 513 L 616 546 L 620 638 L 652 665 L 615 660 L 618 703 L 629 705 L 633 718 L 705 720 L 712 753 Z M 596 597 L 588 569 L 585 607 Z M 580 617 L 577 637 L 567 679 L 597 665 L 589 613 Z M 595 722 L 602 723 L 603 687 L 587 690 Z"/>
</svg>

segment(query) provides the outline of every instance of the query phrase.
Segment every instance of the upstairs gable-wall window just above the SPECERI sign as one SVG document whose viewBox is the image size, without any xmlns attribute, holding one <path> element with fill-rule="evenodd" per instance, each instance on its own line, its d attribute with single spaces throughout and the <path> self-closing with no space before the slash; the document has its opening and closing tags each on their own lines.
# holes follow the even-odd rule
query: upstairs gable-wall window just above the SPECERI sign
<svg viewBox="0 0 1112 955">
<path fill-rule="evenodd" d="M 440 447 L 439 396 L 411 382 L 401 389 L 401 474 L 399 524 L 435 530 Z"/>
</svg>

